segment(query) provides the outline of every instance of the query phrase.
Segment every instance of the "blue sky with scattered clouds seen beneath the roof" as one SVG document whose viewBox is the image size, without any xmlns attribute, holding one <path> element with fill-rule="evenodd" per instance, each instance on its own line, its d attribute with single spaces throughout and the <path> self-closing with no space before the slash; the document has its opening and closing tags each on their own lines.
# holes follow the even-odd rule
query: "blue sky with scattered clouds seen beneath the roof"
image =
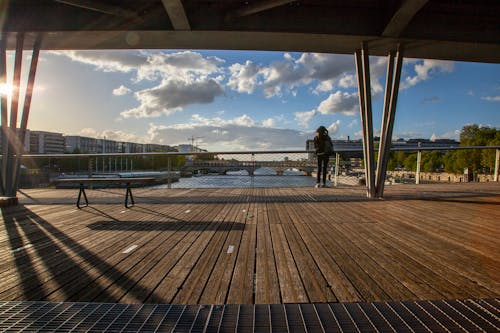
<svg viewBox="0 0 500 333">
<path fill-rule="evenodd" d="M 13 52 L 7 60 L 11 82 Z M 386 57 L 370 57 L 376 135 L 386 70 Z M 499 64 L 404 60 L 394 139 L 457 139 L 473 123 L 500 127 Z M 42 51 L 28 128 L 240 151 L 305 149 L 320 125 L 333 139 L 361 138 L 353 55 Z"/>
</svg>

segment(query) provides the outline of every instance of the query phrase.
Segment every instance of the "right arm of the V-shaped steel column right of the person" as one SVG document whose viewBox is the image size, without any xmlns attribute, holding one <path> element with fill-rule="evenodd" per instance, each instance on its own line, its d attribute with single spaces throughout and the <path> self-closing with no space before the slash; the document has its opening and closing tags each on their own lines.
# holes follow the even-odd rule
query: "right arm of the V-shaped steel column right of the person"
<svg viewBox="0 0 500 333">
<path fill-rule="evenodd" d="M 390 52 L 387 58 L 387 78 L 385 86 L 384 110 L 382 114 L 382 126 L 380 129 L 380 145 L 375 180 L 375 196 L 381 198 L 384 195 L 384 182 L 389 161 L 392 130 L 396 115 L 396 105 L 399 92 L 399 81 L 403 67 L 403 55 L 398 50 L 396 57 Z"/>
</svg>

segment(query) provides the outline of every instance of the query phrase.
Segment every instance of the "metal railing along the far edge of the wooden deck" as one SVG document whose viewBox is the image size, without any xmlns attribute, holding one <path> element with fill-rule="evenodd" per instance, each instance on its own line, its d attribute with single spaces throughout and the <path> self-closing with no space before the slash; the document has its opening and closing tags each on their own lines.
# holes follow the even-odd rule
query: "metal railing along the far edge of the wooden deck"
<svg viewBox="0 0 500 333">
<path fill-rule="evenodd" d="M 358 184 L 363 177 L 362 159 L 346 160 L 345 153 L 362 155 L 362 148 L 335 147 L 329 168 L 333 186 Z M 391 151 L 417 153 L 415 182 L 420 183 L 422 152 L 494 149 L 494 181 L 498 181 L 500 146 L 393 147 Z M 71 161 L 72 160 L 72 161 Z M 167 187 L 261 187 L 312 186 L 316 159 L 313 151 L 220 151 L 220 152 L 143 152 L 104 154 L 26 154 L 22 157 L 26 179 L 38 177 L 38 185 L 50 184 L 57 177 L 107 175 L 140 176 L 144 173 L 163 177 Z M 343 170 L 343 175 L 341 175 Z M 31 172 L 31 177 L 30 177 Z M 225 176 L 225 177 L 220 177 Z M 277 177 L 281 176 L 281 177 Z M 288 178 L 287 178 L 288 176 Z M 43 179 L 42 179 L 43 178 Z M 36 186 L 32 182 L 31 186 Z"/>
</svg>

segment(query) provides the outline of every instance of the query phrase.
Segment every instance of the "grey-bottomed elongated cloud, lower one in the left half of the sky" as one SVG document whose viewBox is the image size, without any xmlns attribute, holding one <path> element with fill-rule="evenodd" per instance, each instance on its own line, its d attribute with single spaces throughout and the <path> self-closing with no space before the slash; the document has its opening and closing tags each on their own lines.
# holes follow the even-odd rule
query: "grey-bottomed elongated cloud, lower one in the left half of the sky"
<svg viewBox="0 0 500 333">
<path fill-rule="evenodd" d="M 208 104 L 223 93 L 213 79 L 200 81 L 164 80 L 159 86 L 138 91 L 135 98 L 140 105 L 124 111 L 124 118 L 158 117 L 170 115 L 191 104 Z"/>
</svg>

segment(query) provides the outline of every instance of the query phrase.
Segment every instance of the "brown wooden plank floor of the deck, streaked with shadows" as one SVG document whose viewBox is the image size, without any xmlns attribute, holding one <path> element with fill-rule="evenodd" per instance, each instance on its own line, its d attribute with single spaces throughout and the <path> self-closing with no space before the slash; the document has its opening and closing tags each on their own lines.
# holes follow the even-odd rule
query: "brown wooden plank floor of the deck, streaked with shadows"
<svg viewBox="0 0 500 333">
<path fill-rule="evenodd" d="M 500 185 L 33 189 L 2 210 L 0 300 L 303 303 L 500 297 Z"/>
</svg>

